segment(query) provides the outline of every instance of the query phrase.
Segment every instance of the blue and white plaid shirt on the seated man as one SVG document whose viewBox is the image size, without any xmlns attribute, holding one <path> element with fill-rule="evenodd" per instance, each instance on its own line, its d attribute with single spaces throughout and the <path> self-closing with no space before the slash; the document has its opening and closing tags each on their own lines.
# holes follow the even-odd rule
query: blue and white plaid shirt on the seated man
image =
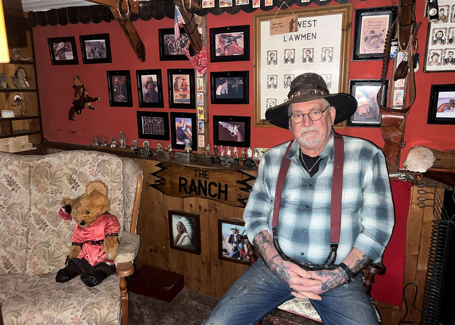
<svg viewBox="0 0 455 325">
<path fill-rule="evenodd" d="M 381 260 L 394 226 L 394 205 L 382 151 L 369 141 L 343 136 L 344 170 L 340 242 L 336 264 L 356 247 L 375 262 Z M 248 238 L 262 230 L 272 234 L 273 201 L 289 142 L 264 153 L 243 214 Z M 322 264 L 330 252 L 330 197 L 334 169 L 334 136 L 319 154 L 319 171 L 309 177 L 298 159 L 298 142 L 283 185 L 278 241 L 283 253 L 306 263 Z"/>
</svg>

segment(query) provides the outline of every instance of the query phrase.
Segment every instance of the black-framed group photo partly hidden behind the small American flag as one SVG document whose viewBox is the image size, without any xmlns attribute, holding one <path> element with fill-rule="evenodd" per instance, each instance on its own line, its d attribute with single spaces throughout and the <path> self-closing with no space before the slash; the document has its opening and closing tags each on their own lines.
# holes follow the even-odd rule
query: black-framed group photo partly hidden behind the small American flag
<svg viewBox="0 0 455 325">
<path fill-rule="evenodd" d="M 183 49 L 187 46 L 188 35 L 183 27 L 180 27 L 180 37 L 175 39 L 173 28 L 158 30 L 158 42 L 160 47 L 160 61 L 188 60 Z M 194 56 L 192 46 L 189 47 L 190 55 Z"/>
</svg>

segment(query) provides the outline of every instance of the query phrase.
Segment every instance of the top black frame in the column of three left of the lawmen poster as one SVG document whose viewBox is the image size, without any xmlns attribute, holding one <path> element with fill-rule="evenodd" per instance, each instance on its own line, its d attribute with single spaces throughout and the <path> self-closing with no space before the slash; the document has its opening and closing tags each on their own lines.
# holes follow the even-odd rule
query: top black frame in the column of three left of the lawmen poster
<svg viewBox="0 0 455 325">
<path fill-rule="evenodd" d="M 217 36 L 219 34 L 243 33 L 243 54 L 217 55 Z M 234 35 L 234 37 L 240 35 Z M 250 60 L 250 25 L 210 28 L 210 62 L 249 61 Z M 232 36 L 230 36 L 232 37 Z M 218 44 L 219 45 L 219 44 Z M 221 51 L 220 45 L 220 51 Z M 234 49 L 234 48 L 233 48 Z M 235 49 L 234 49 L 235 50 Z"/>
</svg>

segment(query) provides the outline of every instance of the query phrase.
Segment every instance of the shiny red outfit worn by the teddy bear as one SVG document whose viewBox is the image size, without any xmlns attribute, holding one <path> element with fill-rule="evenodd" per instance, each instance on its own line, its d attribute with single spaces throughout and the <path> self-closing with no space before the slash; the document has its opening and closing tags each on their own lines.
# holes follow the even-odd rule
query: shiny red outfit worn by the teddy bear
<svg viewBox="0 0 455 325">
<path fill-rule="evenodd" d="M 115 215 L 106 213 L 100 215 L 94 223 L 86 228 L 76 225 L 71 236 L 71 241 L 74 243 L 83 243 L 86 240 L 104 240 L 106 235 L 118 233 L 120 231 L 120 223 Z M 85 243 L 81 247 L 81 252 L 77 255 L 78 258 L 85 258 L 91 265 L 95 266 L 101 262 L 114 263 L 114 260 L 109 260 L 104 251 L 104 245 L 93 245 Z"/>
</svg>

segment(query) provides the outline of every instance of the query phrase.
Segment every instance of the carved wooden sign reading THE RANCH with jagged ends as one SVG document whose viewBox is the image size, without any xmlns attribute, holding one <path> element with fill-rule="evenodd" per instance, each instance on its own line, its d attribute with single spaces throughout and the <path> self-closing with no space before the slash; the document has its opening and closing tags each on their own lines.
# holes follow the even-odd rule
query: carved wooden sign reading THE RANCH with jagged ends
<svg viewBox="0 0 455 325">
<path fill-rule="evenodd" d="M 177 197 L 201 197 L 227 205 L 244 208 L 255 176 L 241 170 L 209 169 L 184 166 L 168 162 L 156 165 L 160 170 L 152 173 L 157 177 L 154 189 Z"/>
</svg>

